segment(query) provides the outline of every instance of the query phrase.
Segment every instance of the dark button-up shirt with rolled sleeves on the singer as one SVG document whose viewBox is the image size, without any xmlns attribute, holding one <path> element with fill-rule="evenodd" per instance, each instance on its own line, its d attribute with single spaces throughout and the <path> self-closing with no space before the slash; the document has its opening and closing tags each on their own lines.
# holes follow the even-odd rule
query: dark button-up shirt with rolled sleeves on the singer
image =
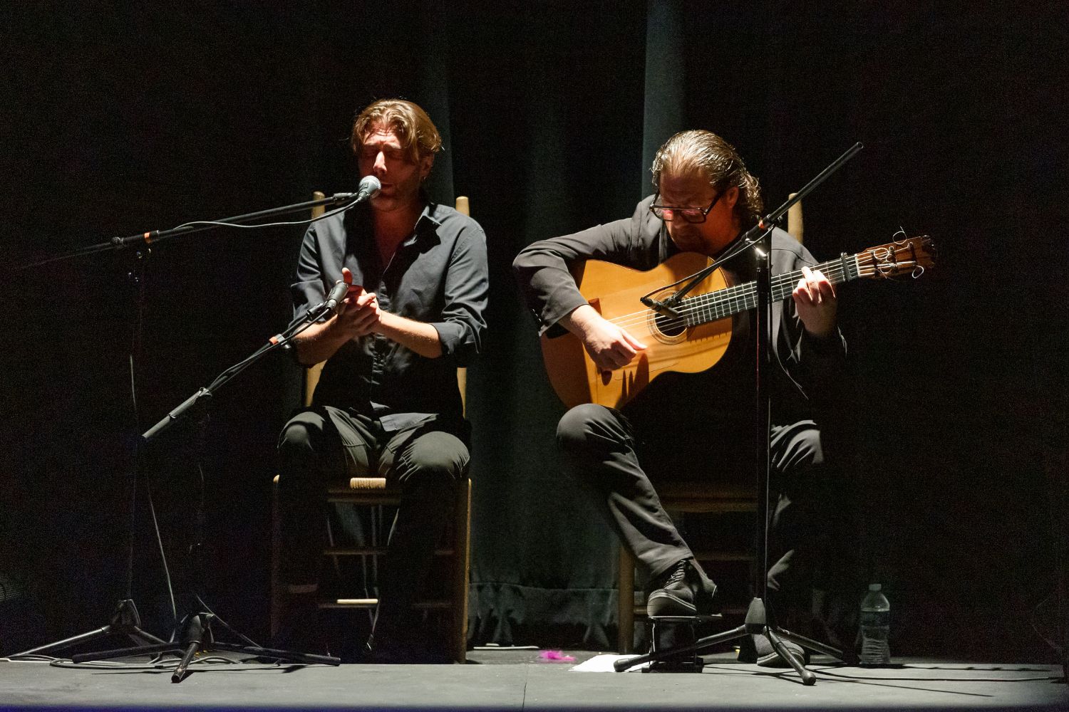
<svg viewBox="0 0 1069 712">
<path fill-rule="evenodd" d="M 413 234 L 385 267 L 370 207 L 313 222 L 305 233 L 291 292 L 294 321 L 325 299 L 342 267 L 378 296 L 379 306 L 438 332 L 443 355 L 428 359 L 382 334 L 350 341 L 327 360 L 313 406 L 377 417 L 399 430 L 434 416 L 462 421 L 458 366 L 480 350 L 489 288 L 486 236 L 453 208 L 428 202 Z"/>
</svg>

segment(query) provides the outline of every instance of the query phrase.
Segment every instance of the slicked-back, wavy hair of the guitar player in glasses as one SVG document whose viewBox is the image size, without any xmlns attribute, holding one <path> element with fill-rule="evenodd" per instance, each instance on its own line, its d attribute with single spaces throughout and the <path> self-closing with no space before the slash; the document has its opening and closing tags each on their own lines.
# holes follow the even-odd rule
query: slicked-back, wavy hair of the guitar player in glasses
<svg viewBox="0 0 1069 712">
<path fill-rule="evenodd" d="M 695 129 L 671 137 L 657 149 L 650 171 L 653 173 L 653 187 L 659 191 L 661 176 L 666 173 L 675 176 L 701 175 L 717 193 L 735 187 L 739 200 L 734 210 L 742 226 L 749 227 L 761 219 L 764 206 L 757 178 L 746 170 L 734 146 L 712 131 Z"/>
</svg>

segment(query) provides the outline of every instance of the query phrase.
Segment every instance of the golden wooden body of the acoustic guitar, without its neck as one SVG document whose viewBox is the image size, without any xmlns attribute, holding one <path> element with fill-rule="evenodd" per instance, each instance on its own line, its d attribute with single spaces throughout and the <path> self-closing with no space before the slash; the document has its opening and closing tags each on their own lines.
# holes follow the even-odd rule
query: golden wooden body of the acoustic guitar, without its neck
<svg viewBox="0 0 1069 712">
<path fill-rule="evenodd" d="M 602 374 L 575 335 L 568 332 L 553 337 L 543 335 L 542 357 L 549 382 L 561 401 L 569 408 L 585 402 L 620 408 L 662 374 L 693 374 L 715 365 L 731 341 L 730 317 L 685 327 L 679 319 L 659 315 L 640 301 L 659 287 L 694 274 L 710 262 L 696 252 L 683 252 L 645 272 L 595 259 L 575 265 L 572 273 L 590 305 L 646 344 L 646 349 L 623 368 Z M 687 296 L 726 286 L 723 270 L 715 270 Z M 676 289 L 663 289 L 653 297 L 664 301 Z"/>
</svg>

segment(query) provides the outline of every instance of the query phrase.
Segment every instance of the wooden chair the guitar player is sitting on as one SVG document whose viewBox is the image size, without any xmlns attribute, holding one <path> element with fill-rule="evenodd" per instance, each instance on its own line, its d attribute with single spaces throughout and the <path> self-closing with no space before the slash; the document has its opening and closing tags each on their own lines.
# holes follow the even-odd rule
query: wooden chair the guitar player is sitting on
<svg viewBox="0 0 1069 712">
<path fill-rule="evenodd" d="M 794 193 L 791 193 L 791 197 Z M 799 242 L 803 238 L 802 202 L 797 202 L 787 211 L 787 232 Z M 757 512 L 757 494 L 753 485 L 724 485 L 722 482 L 666 482 L 657 488 L 661 504 L 669 511 L 684 513 L 728 513 Z M 695 551 L 695 558 L 703 564 L 728 564 L 745 561 L 750 567 L 756 566 L 756 556 L 749 549 L 717 549 Z M 635 637 L 635 616 L 646 615 L 645 602 L 635 602 L 635 557 L 625 548 L 620 547 L 620 566 L 617 577 L 617 618 L 619 632 L 617 648 L 621 653 L 632 652 Z M 727 606 L 725 613 L 741 614 L 745 608 Z"/>
</svg>

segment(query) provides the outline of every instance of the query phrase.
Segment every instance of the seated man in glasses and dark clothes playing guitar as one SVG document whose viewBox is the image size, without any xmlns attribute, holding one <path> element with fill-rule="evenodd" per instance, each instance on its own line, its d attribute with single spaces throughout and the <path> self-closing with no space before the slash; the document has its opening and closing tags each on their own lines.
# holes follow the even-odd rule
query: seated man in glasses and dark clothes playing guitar
<svg viewBox="0 0 1069 712">
<path fill-rule="evenodd" d="M 638 203 L 630 218 L 534 242 L 513 263 L 540 333 L 571 332 L 602 373 L 642 359 L 649 344 L 603 317 L 597 302 L 580 294 L 570 267 L 595 259 L 650 270 L 683 252 L 715 258 L 729 253 L 740 234 L 761 217 L 757 179 L 715 133 L 690 130 L 671 137 L 659 149 L 652 173 L 656 192 Z M 826 519 L 814 509 L 824 501 L 819 490 L 826 480 L 822 475 L 827 472 L 828 431 L 822 424 L 834 410 L 846 343 L 836 326 L 832 283 L 806 267 L 815 263 L 790 235 L 774 231 L 773 278 L 802 270 L 803 279 L 789 298 L 773 304 L 778 367 L 772 369 L 769 389 L 772 482 L 778 501 L 770 507 L 770 616 L 792 603 L 808 608 L 807 576 L 815 554 L 827 545 L 822 526 Z M 728 284 L 755 279 L 749 251 L 723 269 Z M 557 427 L 569 470 L 589 485 L 620 540 L 648 570 L 650 616 L 693 616 L 716 608 L 716 585 L 694 559 L 652 482 L 687 475 L 753 481 L 750 317 L 746 312 L 737 315 L 727 351 L 713 367 L 661 375 L 619 410 L 591 402 L 575 406 Z M 642 338 L 649 341 L 649 335 Z M 787 665 L 763 637 L 755 636 L 754 644 L 752 662 Z M 803 655 L 801 648 L 788 645 L 793 646 L 792 654 Z"/>
</svg>

